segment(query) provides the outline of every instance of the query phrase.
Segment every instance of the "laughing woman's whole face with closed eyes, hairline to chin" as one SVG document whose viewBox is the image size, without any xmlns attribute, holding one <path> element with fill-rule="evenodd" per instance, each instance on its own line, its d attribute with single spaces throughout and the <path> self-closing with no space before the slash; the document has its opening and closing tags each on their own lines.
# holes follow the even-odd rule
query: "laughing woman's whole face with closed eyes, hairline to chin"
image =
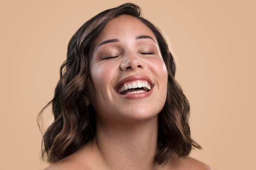
<svg viewBox="0 0 256 170">
<path fill-rule="evenodd" d="M 167 69 L 154 33 L 130 15 L 113 18 L 92 46 L 86 104 L 97 119 L 156 117 L 167 93 Z"/>
</svg>

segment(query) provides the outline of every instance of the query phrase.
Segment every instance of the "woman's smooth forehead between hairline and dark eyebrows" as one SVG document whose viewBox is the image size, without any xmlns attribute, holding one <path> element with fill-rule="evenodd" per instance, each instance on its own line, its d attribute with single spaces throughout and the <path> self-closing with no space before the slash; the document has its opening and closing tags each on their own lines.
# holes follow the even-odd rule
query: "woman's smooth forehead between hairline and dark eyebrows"
<svg viewBox="0 0 256 170">
<path fill-rule="evenodd" d="M 153 31 L 141 20 L 131 15 L 120 15 L 106 24 L 103 31 L 94 40 L 94 45 L 108 39 L 135 38 L 140 35 L 148 35 L 157 42 Z"/>
</svg>

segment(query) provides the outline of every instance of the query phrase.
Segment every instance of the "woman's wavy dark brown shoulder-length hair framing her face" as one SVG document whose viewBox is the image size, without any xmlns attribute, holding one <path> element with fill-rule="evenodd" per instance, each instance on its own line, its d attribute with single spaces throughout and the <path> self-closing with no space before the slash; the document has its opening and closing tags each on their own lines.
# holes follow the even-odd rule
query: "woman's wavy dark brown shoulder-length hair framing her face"
<svg viewBox="0 0 256 170">
<path fill-rule="evenodd" d="M 124 14 L 134 16 L 153 31 L 168 70 L 167 98 L 159 113 L 159 150 L 155 161 L 164 165 L 170 158 L 189 155 L 192 146 L 201 148 L 190 136 L 189 102 L 174 79 L 176 66 L 166 40 L 156 26 L 141 17 L 141 9 L 137 5 L 126 3 L 103 11 L 85 22 L 68 44 L 67 60 L 61 66 L 54 98 L 45 106 L 52 104 L 54 113 L 54 122 L 47 128 L 42 142 L 42 157 L 46 156 L 49 163 L 67 157 L 94 137 L 94 108 L 86 106 L 83 99 L 90 75 L 92 42 L 112 18 Z M 41 117 L 43 110 L 38 117 Z"/>
</svg>

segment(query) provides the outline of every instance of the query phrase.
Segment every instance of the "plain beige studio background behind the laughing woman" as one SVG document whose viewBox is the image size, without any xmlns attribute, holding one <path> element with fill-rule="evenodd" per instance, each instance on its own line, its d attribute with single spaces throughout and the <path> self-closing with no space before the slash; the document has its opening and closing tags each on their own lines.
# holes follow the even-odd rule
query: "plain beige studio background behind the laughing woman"
<svg viewBox="0 0 256 170">
<path fill-rule="evenodd" d="M 53 97 L 67 43 L 85 21 L 124 2 L 1 0 L 1 170 L 47 166 L 40 161 L 36 116 Z M 255 1 L 132 2 L 162 30 L 177 60 L 191 133 L 203 146 L 191 156 L 217 170 L 255 170 Z"/>
</svg>

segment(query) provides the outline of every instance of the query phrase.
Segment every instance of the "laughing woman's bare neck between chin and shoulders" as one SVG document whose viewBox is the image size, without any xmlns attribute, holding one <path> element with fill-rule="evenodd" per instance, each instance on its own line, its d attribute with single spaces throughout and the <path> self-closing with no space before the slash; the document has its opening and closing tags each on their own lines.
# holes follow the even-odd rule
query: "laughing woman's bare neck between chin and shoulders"
<svg viewBox="0 0 256 170">
<path fill-rule="evenodd" d="M 94 144 L 111 170 L 154 170 L 157 163 L 157 116 L 133 124 L 97 121 Z"/>
</svg>

